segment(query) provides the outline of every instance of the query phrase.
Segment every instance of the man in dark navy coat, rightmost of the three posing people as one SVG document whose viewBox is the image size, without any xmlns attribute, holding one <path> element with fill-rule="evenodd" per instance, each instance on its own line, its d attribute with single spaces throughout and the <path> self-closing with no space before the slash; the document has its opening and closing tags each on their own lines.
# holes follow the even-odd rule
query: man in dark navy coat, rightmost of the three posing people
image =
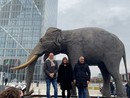
<svg viewBox="0 0 130 98">
<path fill-rule="evenodd" d="M 74 67 L 74 83 L 78 88 L 78 98 L 87 98 L 87 86 L 90 82 L 90 69 L 85 63 L 85 58 L 81 56 Z"/>
</svg>

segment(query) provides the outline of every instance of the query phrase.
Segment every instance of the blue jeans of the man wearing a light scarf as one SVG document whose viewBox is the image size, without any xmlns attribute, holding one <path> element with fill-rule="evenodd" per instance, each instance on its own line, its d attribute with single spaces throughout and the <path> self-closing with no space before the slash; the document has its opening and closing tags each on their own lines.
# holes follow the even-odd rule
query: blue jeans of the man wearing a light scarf
<svg viewBox="0 0 130 98">
<path fill-rule="evenodd" d="M 47 98 L 51 98 L 50 97 L 50 85 L 53 85 L 53 88 L 54 88 L 54 98 L 57 98 L 57 80 L 56 79 L 46 79 L 46 94 L 47 94 Z"/>
</svg>

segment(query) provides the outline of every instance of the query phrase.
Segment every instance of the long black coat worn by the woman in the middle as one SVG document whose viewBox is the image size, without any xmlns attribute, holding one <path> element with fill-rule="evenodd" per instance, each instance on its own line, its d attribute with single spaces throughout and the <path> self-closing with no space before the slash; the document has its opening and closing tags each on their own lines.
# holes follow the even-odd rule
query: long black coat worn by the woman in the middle
<svg viewBox="0 0 130 98">
<path fill-rule="evenodd" d="M 60 83 L 62 90 L 72 89 L 73 71 L 71 65 L 61 64 L 59 66 L 57 82 Z"/>
</svg>

